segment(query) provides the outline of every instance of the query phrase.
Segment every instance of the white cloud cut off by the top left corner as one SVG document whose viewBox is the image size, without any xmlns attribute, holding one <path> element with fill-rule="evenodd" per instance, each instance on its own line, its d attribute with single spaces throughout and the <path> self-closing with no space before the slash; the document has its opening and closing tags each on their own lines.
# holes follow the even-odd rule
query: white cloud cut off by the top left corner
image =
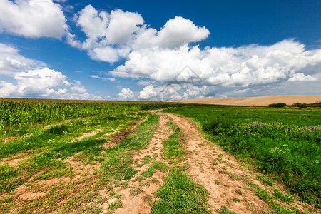
<svg viewBox="0 0 321 214">
<path fill-rule="evenodd" d="M 51 0 L 0 0 L 0 31 L 61 39 L 68 26 L 60 4 Z"/>
</svg>

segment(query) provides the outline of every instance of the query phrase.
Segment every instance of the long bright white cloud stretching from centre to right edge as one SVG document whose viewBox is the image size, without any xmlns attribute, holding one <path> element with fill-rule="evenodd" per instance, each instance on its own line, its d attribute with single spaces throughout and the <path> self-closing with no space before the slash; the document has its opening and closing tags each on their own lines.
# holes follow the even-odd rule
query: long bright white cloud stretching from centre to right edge
<svg viewBox="0 0 321 214">
<path fill-rule="evenodd" d="M 321 66 L 321 51 L 306 51 L 305 45 L 293 40 L 271 46 L 249 45 L 239 48 L 138 49 L 128 55 L 128 61 L 111 71 L 113 76 L 150 78 L 153 81 L 185 83 L 182 69 L 189 66 L 190 81 L 199 85 L 251 86 L 278 81 L 317 80 L 305 76 L 304 68 Z M 305 76 L 302 78 L 301 74 Z"/>
</svg>

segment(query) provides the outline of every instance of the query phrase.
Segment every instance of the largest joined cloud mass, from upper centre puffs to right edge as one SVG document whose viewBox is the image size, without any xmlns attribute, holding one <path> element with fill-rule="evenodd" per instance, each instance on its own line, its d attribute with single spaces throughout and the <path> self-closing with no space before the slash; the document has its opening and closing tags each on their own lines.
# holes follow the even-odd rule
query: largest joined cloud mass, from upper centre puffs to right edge
<svg viewBox="0 0 321 214">
<path fill-rule="evenodd" d="M 140 14 L 121 10 L 98 12 L 91 5 L 80 11 L 75 21 L 86 40 L 76 40 L 70 34 L 69 44 L 87 51 L 97 61 L 115 63 L 124 58 L 126 62 L 110 72 L 116 78 L 147 78 L 156 82 L 146 84 L 133 96 L 120 93 L 120 98 L 156 98 L 168 83 L 172 89 L 190 84 L 180 87 L 178 94 L 172 90 L 168 97 L 195 98 L 213 96 L 215 91 L 224 91 L 222 88 L 243 93 L 246 88 L 267 84 L 320 81 L 320 71 L 307 68 L 321 66 L 321 49 L 306 50 L 305 44 L 294 39 L 269 46 L 200 48 L 191 43 L 208 38 L 210 31 L 183 17 L 175 16 L 158 31 L 148 26 Z M 188 76 L 183 71 L 185 66 L 193 71 Z M 138 81 L 138 85 L 143 86 L 142 83 Z M 123 89 L 126 94 L 129 88 Z"/>
</svg>

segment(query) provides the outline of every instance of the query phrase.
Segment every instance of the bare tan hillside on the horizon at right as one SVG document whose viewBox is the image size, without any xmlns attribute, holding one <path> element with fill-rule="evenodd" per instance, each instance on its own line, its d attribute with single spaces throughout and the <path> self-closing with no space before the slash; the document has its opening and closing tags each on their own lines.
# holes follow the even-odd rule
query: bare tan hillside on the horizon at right
<svg viewBox="0 0 321 214">
<path fill-rule="evenodd" d="M 231 106 L 268 106 L 271 103 L 317 103 L 321 102 L 321 95 L 293 95 L 293 96 L 257 96 L 246 98 L 200 98 L 178 101 L 180 103 L 200 103 Z"/>
</svg>

